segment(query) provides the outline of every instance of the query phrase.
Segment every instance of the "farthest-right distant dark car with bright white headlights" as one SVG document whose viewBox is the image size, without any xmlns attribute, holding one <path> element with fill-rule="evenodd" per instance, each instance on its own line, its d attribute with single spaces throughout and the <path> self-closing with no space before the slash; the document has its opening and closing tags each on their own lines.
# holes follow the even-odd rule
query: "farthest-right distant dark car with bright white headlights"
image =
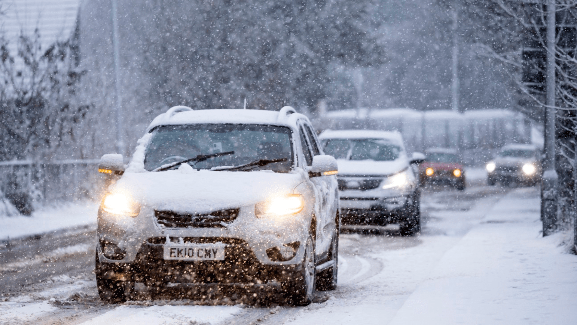
<svg viewBox="0 0 577 325">
<path fill-rule="evenodd" d="M 534 145 L 505 145 L 486 164 L 487 182 L 533 186 L 541 180 L 541 154 Z"/>
</svg>

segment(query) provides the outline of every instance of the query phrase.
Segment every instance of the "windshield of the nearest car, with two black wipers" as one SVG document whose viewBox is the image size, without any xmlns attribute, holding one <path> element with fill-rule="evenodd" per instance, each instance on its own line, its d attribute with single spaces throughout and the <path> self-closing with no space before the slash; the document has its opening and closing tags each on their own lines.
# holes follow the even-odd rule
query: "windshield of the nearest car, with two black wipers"
<svg viewBox="0 0 577 325">
<path fill-rule="evenodd" d="M 144 168 L 148 171 L 198 156 L 234 152 L 204 161 L 190 161 L 196 169 L 238 166 L 265 159 L 284 161 L 257 165 L 250 170 L 288 172 L 293 165 L 291 130 L 259 124 L 186 124 L 155 129 Z M 176 167 L 175 167 L 176 168 Z"/>
</svg>

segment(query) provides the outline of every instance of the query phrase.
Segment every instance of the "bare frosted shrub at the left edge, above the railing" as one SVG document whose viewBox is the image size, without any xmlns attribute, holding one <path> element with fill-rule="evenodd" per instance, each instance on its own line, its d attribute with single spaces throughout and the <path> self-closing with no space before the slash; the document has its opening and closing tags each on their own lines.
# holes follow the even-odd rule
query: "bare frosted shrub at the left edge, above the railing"
<svg viewBox="0 0 577 325">
<path fill-rule="evenodd" d="M 81 73 L 73 40 L 43 49 L 39 37 L 22 34 L 16 55 L 6 40 L 0 46 L 0 160 L 50 160 L 74 141 L 87 109 L 74 97 Z"/>
</svg>

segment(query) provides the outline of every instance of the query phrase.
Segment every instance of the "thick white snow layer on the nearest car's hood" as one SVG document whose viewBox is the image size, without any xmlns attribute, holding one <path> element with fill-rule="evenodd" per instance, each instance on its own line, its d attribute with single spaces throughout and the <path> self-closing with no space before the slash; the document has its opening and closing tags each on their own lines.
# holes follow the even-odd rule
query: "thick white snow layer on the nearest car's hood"
<svg viewBox="0 0 577 325">
<path fill-rule="evenodd" d="M 189 167 L 125 173 L 112 191 L 126 193 L 153 209 L 207 213 L 290 194 L 301 182 L 298 173 L 196 171 Z"/>
</svg>

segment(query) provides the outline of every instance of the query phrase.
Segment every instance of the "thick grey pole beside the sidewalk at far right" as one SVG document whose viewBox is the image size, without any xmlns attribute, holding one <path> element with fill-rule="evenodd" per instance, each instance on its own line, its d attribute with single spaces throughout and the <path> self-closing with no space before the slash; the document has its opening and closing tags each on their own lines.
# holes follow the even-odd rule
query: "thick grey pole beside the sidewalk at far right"
<svg viewBox="0 0 577 325">
<path fill-rule="evenodd" d="M 545 161 L 541 183 L 541 221 L 543 235 L 550 235 L 557 224 L 557 172 L 555 171 L 555 0 L 547 0 L 547 81 L 545 108 Z"/>
</svg>

